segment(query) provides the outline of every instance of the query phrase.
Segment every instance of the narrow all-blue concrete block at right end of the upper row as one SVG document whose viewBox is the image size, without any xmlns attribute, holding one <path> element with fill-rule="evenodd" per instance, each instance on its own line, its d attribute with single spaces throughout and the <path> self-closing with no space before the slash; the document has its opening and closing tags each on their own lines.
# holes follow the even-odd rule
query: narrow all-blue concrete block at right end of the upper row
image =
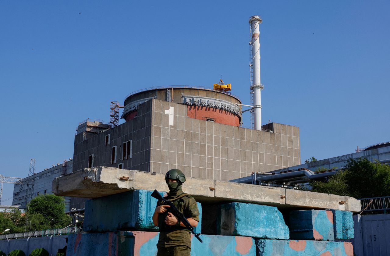
<svg viewBox="0 0 390 256">
<path fill-rule="evenodd" d="M 335 239 L 351 239 L 354 237 L 352 212 L 331 210 L 333 213 Z"/>
</svg>

